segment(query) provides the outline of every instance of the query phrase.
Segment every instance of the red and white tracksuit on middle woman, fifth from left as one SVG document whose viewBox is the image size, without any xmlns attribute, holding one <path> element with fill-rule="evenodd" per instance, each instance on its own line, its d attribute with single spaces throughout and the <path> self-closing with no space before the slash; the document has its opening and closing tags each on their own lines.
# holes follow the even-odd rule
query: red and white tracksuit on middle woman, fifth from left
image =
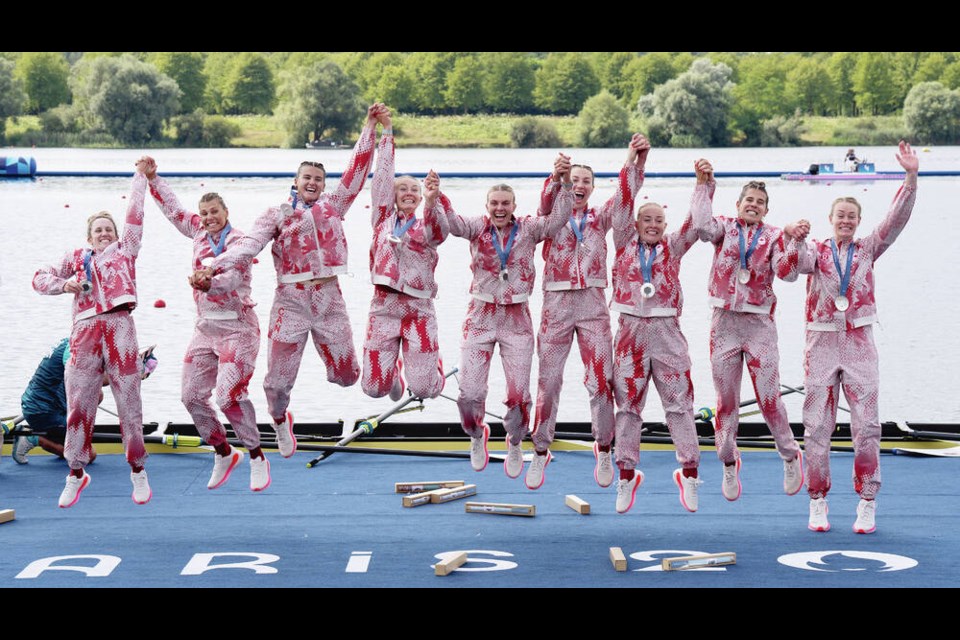
<svg viewBox="0 0 960 640">
<path fill-rule="evenodd" d="M 555 190 L 560 189 L 554 183 Z M 450 226 L 450 233 L 470 241 L 470 268 L 473 299 L 467 307 L 460 349 L 460 395 L 457 406 L 463 430 L 479 436 L 484 424 L 487 379 L 494 345 L 500 345 L 500 359 L 507 383 L 507 412 L 503 426 L 514 444 L 527 434 L 530 424 L 530 365 L 533 360 L 533 322 L 527 300 L 533 292 L 536 271 L 533 253 L 538 242 L 553 236 L 570 219 L 573 196 L 562 191 L 555 198 L 549 216 L 514 218 L 517 234 L 507 259 L 507 280 L 500 277 L 500 257 L 494 249 L 493 223 L 489 216 L 464 218 L 450 201 L 438 198 Z M 506 242 L 513 225 L 500 234 Z"/>
</svg>

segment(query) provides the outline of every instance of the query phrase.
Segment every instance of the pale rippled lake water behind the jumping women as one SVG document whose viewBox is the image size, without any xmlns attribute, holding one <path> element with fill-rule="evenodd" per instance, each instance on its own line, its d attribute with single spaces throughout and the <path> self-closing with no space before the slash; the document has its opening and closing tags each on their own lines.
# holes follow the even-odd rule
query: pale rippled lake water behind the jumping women
<svg viewBox="0 0 960 640">
<path fill-rule="evenodd" d="M 597 171 L 617 171 L 624 151 L 620 149 L 567 150 L 575 162 L 590 164 Z M 710 159 L 722 171 L 802 171 L 814 162 L 839 163 L 845 148 L 816 147 L 792 149 L 654 149 L 648 162 L 649 172 L 692 171 L 699 157 Z M 920 151 L 921 171 L 960 169 L 960 147 L 934 147 Z M 860 147 L 881 171 L 896 170 L 893 147 Z M 0 150 L 7 156 L 33 156 L 40 171 L 124 171 L 133 169 L 138 150 L 18 149 Z M 301 160 L 323 162 L 330 171 L 341 171 L 349 151 L 344 150 L 157 150 L 161 174 L 164 171 L 290 171 Z M 398 172 L 441 174 L 459 171 L 543 171 L 552 167 L 556 150 L 438 150 L 400 149 Z M 332 182 L 332 181 L 331 181 Z M 491 179 L 449 179 L 443 190 L 464 215 L 483 213 L 484 194 Z M 714 212 L 732 215 L 743 179 L 721 179 L 714 198 Z M 171 185 L 181 202 L 194 206 L 207 191 L 218 191 L 230 209 L 231 222 L 249 229 L 254 218 L 268 206 L 282 201 L 289 180 L 265 178 L 178 178 Z M 670 229 L 686 215 L 693 179 L 648 179 L 640 193 L 644 198 L 667 206 Z M 517 190 L 518 213 L 534 213 L 540 180 L 513 181 Z M 328 184 L 328 189 L 332 185 Z M 783 226 L 806 217 L 813 223 L 812 236 L 830 235 L 827 222 L 830 203 L 839 196 L 855 196 L 863 204 L 861 234 L 866 235 L 885 215 L 899 183 L 877 181 L 852 184 L 808 184 L 779 180 L 768 181 L 770 213 L 767 220 Z M 0 415 L 19 413 L 19 399 L 40 358 L 61 337 L 70 333 L 70 301 L 66 296 L 41 296 L 31 288 L 33 273 L 42 264 L 52 262 L 68 249 L 85 245 L 85 220 L 90 213 L 106 209 L 122 215 L 126 207 L 130 181 L 123 178 L 44 178 L 0 180 L 0 214 L 7 231 L 0 236 Z M 601 205 L 614 190 L 614 181 L 598 180 L 591 203 Z M 347 214 L 345 223 L 350 243 L 350 274 L 340 278 L 350 313 L 358 354 L 366 328 L 367 311 L 373 287 L 368 271 L 370 243 L 370 187 L 367 183 Z M 960 225 L 956 222 L 956 203 L 960 197 L 958 178 L 920 179 L 913 218 L 899 240 L 877 263 L 877 305 L 880 325 L 875 331 L 880 352 L 881 402 L 883 420 L 944 422 L 960 419 L 953 405 L 956 382 L 960 380 L 960 338 L 957 337 L 957 312 L 960 310 L 960 266 L 955 257 L 960 245 Z M 150 200 L 148 196 L 148 200 Z M 157 343 L 160 366 L 143 386 L 144 420 L 188 422 L 189 414 L 180 403 L 180 369 L 183 353 L 192 334 L 195 308 L 186 284 L 191 242 L 181 236 L 152 202 L 146 205 L 143 248 L 137 268 L 140 306 L 136 319 L 140 344 Z M 609 259 L 613 244 L 609 243 Z M 707 274 L 713 255 L 712 246 L 701 243 L 684 259 L 681 281 L 684 289 L 683 331 L 693 359 L 696 407 L 713 406 L 715 397 L 710 375 Z M 539 251 L 538 281 L 531 300 L 535 325 L 541 305 L 542 260 Z M 459 356 L 461 324 L 469 301 L 469 250 L 466 241 L 451 237 L 440 247 L 437 280 L 440 294 L 436 301 L 440 327 L 440 347 L 448 368 Z M 266 372 L 266 326 L 276 281 L 269 249 L 254 267 L 253 297 L 260 317 L 263 342 L 250 395 L 258 418 L 266 421 L 263 375 Z M 804 283 L 777 281 L 779 297 L 776 316 L 780 333 L 781 377 L 790 385 L 803 383 L 803 303 Z M 607 291 L 609 299 L 609 290 Z M 162 299 L 166 308 L 155 308 Z M 616 314 L 613 314 L 614 322 Z M 491 369 L 487 408 L 502 414 L 503 373 L 495 358 Z M 534 357 L 531 393 L 536 395 L 537 362 Z M 564 391 L 560 420 L 588 420 L 587 394 L 582 384 L 583 365 L 573 347 L 564 373 Z M 448 381 L 444 392 L 456 396 L 457 383 Z M 743 398 L 752 398 L 749 378 L 744 375 Z M 800 420 L 802 397 L 784 399 L 792 420 Z M 293 391 L 291 410 L 298 421 L 332 422 L 343 418 L 375 415 L 391 405 L 387 398 L 366 397 L 357 384 L 342 389 L 326 382 L 316 352 L 305 352 L 300 376 Z M 104 406 L 114 409 L 107 394 Z M 841 413 L 841 419 L 845 414 Z M 656 390 L 652 390 L 645 417 L 662 420 Z M 116 419 L 101 413 L 104 423 Z M 754 418 L 756 419 L 756 418 Z M 422 414 L 398 416 L 396 420 L 445 422 L 458 420 L 456 405 L 443 398 L 427 402 Z"/>
</svg>

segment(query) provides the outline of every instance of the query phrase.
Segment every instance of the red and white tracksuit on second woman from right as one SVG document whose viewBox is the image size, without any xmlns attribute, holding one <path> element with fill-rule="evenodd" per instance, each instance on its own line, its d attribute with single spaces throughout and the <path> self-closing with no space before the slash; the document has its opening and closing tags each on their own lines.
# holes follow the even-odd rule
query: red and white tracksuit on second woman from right
<svg viewBox="0 0 960 640">
<path fill-rule="evenodd" d="M 758 405 L 773 434 L 783 460 L 793 460 L 800 452 L 787 408 L 780 398 L 780 353 L 777 349 L 777 325 L 773 320 L 777 297 L 774 276 L 792 282 L 797 279 L 796 243 L 785 245 L 783 231 L 768 224 L 741 223 L 745 245 L 760 233 L 756 248 L 747 261 L 750 280 L 740 284 L 739 231 L 736 218 L 713 217 L 710 210 L 695 210 L 694 225 L 700 239 L 715 247 L 710 270 L 709 302 L 714 307 L 710 325 L 710 364 L 717 390 L 717 456 L 724 464 L 739 457 L 740 380 L 743 365 L 753 381 Z"/>
</svg>

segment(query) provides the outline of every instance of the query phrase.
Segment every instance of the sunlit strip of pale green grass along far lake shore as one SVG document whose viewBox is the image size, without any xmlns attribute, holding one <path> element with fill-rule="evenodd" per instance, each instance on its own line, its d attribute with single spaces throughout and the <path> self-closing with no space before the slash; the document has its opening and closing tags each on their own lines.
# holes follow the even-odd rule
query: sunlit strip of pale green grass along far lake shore
<svg viewBox="0 0 960 640">
<path fill-rule="evenodd" d="M 537 117 L 556 127 L 563 146 L 577 146 L 575 116 Z M 510 130 L 520 118 L 521 116 L 514 115 L 397 115 L 394 118 L 394 130 L 398 147 L 509 147 Z M 286 139 L 280 123 L 273 116 L 227 116 L 227 120 L 239 125 L 242 131 L 239 137 L 233 139 L 234 147 L 278 148 L 283 146 Z M 895 144 L 905 135 L 903 119 L 900 116 L 807 117 L 804 125 L 807 131 L 801 140 L 803 144 L 810 146 L 888 145 Z M 111 146 L 100 140 L 87 144 L 82 136 L 73 135 L 74 137 L 64 137 L 43 134 L 37 116 L 7 119 L 8 145 Z"/>
</svg>

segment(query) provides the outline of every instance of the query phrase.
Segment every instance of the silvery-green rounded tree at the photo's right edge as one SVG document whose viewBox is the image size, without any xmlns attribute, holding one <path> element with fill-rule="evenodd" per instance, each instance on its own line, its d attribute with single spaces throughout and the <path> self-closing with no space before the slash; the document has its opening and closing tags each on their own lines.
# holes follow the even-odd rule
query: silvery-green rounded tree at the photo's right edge
<svg viewBox="0 0 960 640">
<path fill-rule="evenodd" d="M 921 82 L 903 103 L 908 135 L 922 144 L 956 144 L 960 140 L 960 91 L 939 82 Z"/>
</svg>

